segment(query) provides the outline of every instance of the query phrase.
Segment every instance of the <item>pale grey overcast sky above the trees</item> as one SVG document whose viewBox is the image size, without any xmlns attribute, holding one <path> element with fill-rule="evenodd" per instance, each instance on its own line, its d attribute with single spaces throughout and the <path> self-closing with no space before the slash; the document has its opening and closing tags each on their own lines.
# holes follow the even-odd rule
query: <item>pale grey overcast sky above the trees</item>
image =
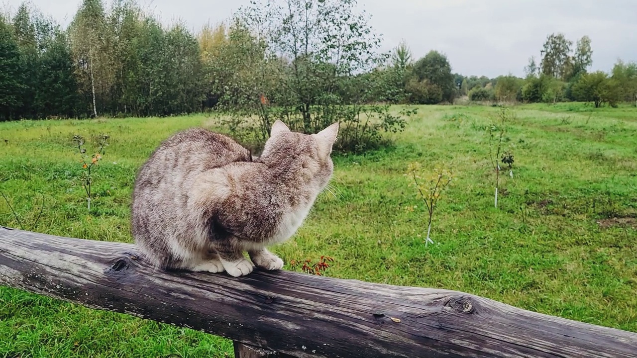
<svg viewBox="0 0 637 358">
<path fill-rule="evenodd" d="M 3 0 L 15 10 L 20 0 Z M 109 0 L 106 0 L 107 2 Z M 81 0 L 31 0 L 66 25 Z M 192 29 L 230 17 L 249 0 L 139 0 L 162 22 L 175 19 Z M 610 71 L 617 58 L 637 61 L 637 0 L 359 0 L 383 36 L 383 50 L 401 39 L 418 58 L 435 49 L 454 72 L 522 76 L 531 55 L 540 56 L 548 34 L 563 32 L 573 43 L 592 41 L 592 69 Z"/>
</svg>

